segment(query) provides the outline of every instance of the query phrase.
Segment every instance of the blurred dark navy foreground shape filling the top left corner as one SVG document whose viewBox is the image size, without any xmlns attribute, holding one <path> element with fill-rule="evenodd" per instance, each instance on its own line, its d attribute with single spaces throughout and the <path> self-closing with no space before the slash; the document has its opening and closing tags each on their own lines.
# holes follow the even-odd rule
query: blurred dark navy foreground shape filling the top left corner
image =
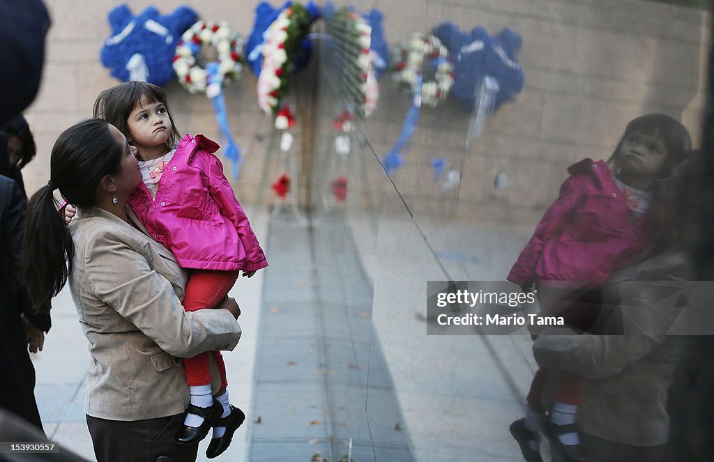
<svg viewBox="0 0 714 462">
<path fill-rule="evenodd" d="M 37 94 L 49 24 L 41 0 L 0 1 L 0 125 L 20 114 Z"/>
</svg>

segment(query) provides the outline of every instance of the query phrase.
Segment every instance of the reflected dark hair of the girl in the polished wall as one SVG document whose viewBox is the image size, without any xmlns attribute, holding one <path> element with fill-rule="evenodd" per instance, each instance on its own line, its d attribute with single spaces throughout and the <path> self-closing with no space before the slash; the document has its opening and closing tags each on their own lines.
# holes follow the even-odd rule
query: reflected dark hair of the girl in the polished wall
<svg viewBox="0 0 714 462">
<path fill-rule="evenodd" d="M 659 179 L 667 178 L 672 174 L 675 166 L 687 158 L 687 154 L 692 149 L 692 140 L 689 136 L 689 131 L 685 126 L 680 124 L 675 119 L 665 114 L 647 114 L 639 116 L 630 121 L 625 127 L 625 133 L 615 152 L 608 159 L 608 166 L 613 174 L 618 174 L 620 171 L 620 149 L 623 146 L 625 138 L 629 134 L 641 133 L 653 136 L 659 136 L 667 149 L 667 159 L 660 169 Z"/>
</svg>

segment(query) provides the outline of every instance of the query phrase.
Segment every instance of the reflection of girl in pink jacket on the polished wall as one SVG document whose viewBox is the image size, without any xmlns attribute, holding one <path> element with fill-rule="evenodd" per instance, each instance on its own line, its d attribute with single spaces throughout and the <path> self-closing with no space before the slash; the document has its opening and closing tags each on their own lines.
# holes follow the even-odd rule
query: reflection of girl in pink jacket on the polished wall
<svg viewBox="0 0 714 462">
<path fill-rule="evenodd" d="M 655 180 L 669 176 L 689 148 L 687 129 L 668 116 L 630 121 L 607 163 L 584 159 L 570 166 L 570 178 L 536 226 L 508 281 L 524 290 L 535 283 L 542 311 L 587 331 L 597 318 L 598 284 L 632 263 L 655 236 L 647 214 Z M 544 421 L 540 396 L 547 374 L 544 368 L 535 373 L 528 416 L 513 422 L 511 433 L 526 461 L 541 461 L 538 431 L 543 422 L 543 433 L 565 460 L 584 460 L 574 424 L 585 381 L 560 371 L 550 420 Z"/>
</svg>

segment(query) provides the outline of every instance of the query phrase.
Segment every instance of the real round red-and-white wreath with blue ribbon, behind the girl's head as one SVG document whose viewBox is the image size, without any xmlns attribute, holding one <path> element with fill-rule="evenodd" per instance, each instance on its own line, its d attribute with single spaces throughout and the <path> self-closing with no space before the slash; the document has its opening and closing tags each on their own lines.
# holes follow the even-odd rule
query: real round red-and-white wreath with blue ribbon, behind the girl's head
<svg viewBox="0 0 714 462">
<path fill-rule="evenodd" d="M 203 46 L 216 49 L 217 60 L 206 63 L 199 55 Z M 233 164 L 233 177 L 240 173 L 241 149 L 228 126 L 228 111 L 223 86 L 241 76 L 243 40 L 225 21 L 197 21 L 181 36 L 174 54 L 174 71 L 183 88 L 191 94 L 202 93 L 211 99 L 216 121 L 226 146 L 223 154 Z"/>
</svg>

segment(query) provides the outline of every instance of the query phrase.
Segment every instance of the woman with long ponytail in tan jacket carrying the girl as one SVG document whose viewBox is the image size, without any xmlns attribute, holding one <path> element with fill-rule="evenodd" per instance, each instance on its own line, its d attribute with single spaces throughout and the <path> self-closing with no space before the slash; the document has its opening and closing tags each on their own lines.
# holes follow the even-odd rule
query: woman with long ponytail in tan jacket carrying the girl
<svg viewBox="0 0 714 462">
<path fill-rule="evenodd" d="M 37 302 L 69 280 L 89 340 L 86 413 L 98 461 L 195 461 L 197 444 L 174 442 L 188 406 L 174 356 L 233 349 L 239 311 L 234 301 L 224 303 L 230 311 L 183 310 L 186 274 L 126 207 L 141 182 L 135 151 L 97 119 L 59 136 L 51 180 L 29 201 L 23 274 Z M 69 227 L 56 212 L 58 188 L 78 208 Z"/>
</svg>

